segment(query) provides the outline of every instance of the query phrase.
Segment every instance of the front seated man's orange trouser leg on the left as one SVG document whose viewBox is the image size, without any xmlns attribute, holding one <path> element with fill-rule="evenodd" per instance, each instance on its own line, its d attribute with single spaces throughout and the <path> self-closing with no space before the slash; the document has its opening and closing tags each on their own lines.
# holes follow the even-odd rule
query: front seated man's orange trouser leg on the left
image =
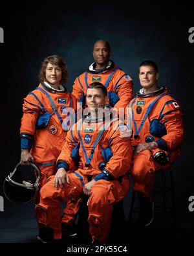
<svg viewBox="0 0 194 256">
<path fill-rule="evenodd" d="M 82 177 L 84 181 L 86 178 Z M 80 178 L 74 173 L 69 174 L 70 183 L 56 189 L 53 185 L 54 176 L 48 178 L 47 183 L 40 190 L 40 202 L 36 205 L 36 218 L 39 224 L 44 224 L 54 230 L 54 239 L 61 238 L 61 209 L 60 201 L 79 198 L 83 194 Z"/>
</svg>

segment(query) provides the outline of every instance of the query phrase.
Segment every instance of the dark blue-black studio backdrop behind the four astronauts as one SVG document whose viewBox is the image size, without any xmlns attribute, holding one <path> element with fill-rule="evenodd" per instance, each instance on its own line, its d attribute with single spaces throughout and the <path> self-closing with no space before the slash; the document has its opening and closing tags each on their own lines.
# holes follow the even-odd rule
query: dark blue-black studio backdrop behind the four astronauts
<svg viewBox="0 0 194 256">
<path fill-rule="evenodd" d="M 189 3 L 94 3 L 89 1 L 36 1 L 1 8 L 4 29 L 1 51 L 1 172 L 0 242 L 32 242 L 36 220 L 32 205 L 15 205 L 3 194 L 3 180 L 20 158 L 19 126 L 23 98 L 38 86 L 43 58 L 59 54 L 67 63 L 67 87 L 93 62 L 96 40 L 111 44 L 111 60 L 133 78 L 140 88 L 138 65 L 150 59 L 158 64 L 159 83 L 180 102 L 184 111 L 185 137 L 182 156 L 174 167 L 177 221 L 185 232 L 194 228 L 188 199 L 194 196 L 193 174 L 193 53 L 189 28 L 194 27 Z M 129 207 L 125 205 L 128 213 Z M 29 221 L 30 220 L 30 221 Z M 30 232 L 33 235 L 30 235 Z M 12 235 L 15 230 L 17 235 Z"/>
</svg>

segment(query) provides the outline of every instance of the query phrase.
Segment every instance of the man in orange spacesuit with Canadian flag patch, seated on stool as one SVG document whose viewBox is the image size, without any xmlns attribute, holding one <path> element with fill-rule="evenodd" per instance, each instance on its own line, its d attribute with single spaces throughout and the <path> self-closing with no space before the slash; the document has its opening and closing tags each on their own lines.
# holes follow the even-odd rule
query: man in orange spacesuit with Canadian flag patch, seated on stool
<svg viewBox="0 0 194 256">
<path fill-rule="evenodd" d="M 140 224 L 148 226 L 153 220 L 153 173 L 169 169 L 180 156 L 184 127 L 177 100 L 166 87 L 157 85 L 155 62 L 148 60 L 140 64 L 139 79 L 142 89 L 126 111 L 132 117 L 134 160 L 131 175 L 134 190 L 140 196 Z"/>
</svg>

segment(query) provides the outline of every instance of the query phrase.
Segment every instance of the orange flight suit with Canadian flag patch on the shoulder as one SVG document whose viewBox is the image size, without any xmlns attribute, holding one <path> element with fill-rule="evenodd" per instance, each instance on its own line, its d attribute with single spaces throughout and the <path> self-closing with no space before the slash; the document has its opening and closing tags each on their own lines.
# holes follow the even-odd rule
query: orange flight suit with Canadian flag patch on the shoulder
<svg viewBox="0 0 194 256">
<path fill-rule="evenodd" d="M 129 122 L 132 117 L 131 145 L 156 141 L 158 148 L 144 150 L 134 156 L 131 175 L 135 181 L 135 191 L 152 199 L 153 173 L 167 170 L 175 159 L 180 156 L 180 145 L 183 141 L 184 127 L 180 106 L 165 87 L 161 87 L 149 96 L 135 95 L 127 108 Z M 131 114 L 130 114 L 131 113 Z M 156 163 L 153 156 L 164 150 L 169 161 L 165 165 Z"/>
</svg>

